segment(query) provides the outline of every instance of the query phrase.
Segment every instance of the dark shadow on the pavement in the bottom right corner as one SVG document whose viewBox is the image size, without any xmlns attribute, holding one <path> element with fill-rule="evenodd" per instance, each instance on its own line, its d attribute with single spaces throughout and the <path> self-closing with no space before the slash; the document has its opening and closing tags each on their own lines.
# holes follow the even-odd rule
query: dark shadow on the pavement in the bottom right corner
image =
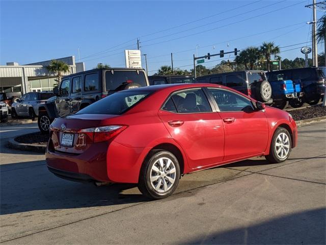
<svg viewBox="0 0 326 245">
<path fill-rule="evenodd" d="M 186 239 L 180 244 L 325 244 L 326 209 L 291 213 L 265 222 Z M 212 227 L 209 231 L 213 230 Z M 221 227 L 216 227 L 216 230 Z"/>
</svg>

